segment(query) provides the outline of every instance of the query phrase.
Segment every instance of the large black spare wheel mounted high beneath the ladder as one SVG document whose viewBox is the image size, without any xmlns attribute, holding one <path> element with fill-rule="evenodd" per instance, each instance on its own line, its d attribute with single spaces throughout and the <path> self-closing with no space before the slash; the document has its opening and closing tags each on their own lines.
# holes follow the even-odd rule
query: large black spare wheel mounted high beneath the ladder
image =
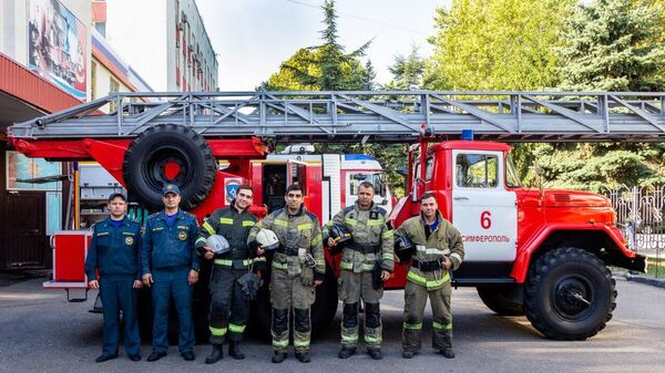
<svg viewBox="0 0 665 373">
<path fill-rule="evenodd" d="M 217 160 L 205 138 L 175 124 L 160 124 L 136 136 L 122 168 L 130 195 L 151 210 L 163 208 L 161 191 L 167 183 L 180 187 L 183 209 L 198 206 L 216 173 Z"/>
</svg>

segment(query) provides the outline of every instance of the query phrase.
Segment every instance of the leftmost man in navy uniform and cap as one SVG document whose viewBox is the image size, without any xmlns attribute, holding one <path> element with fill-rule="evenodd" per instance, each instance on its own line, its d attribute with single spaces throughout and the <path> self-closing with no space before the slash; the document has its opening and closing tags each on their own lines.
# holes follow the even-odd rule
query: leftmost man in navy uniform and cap
<svg viewBox="0 0 665 373">
<path fill-rule="evenodd" d="M 102 354 L 95 362 L 117 358 L 120 312 L 124 322 L 124 349 L 132 361 L 140 361 L 141 336 L 136 321 L 136 289 L 141 288 L 141 224 L 126 215 L 127 200 L 121 193 L 109 197 L 109 217 L 92 229 L 85 258 L 85 274 L 91 289 L 100 289 L 104 331 Z M 95 270 L 100 272 L 96 279 Z"/>
</svg>

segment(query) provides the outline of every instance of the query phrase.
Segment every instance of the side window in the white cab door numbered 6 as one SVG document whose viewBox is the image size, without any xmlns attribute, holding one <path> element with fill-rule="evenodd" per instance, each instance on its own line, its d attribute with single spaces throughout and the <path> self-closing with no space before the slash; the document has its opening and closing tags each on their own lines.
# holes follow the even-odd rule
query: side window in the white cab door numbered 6
<svg viewBox="0 0 665 373">
<path fill-rule="evenodd" d="M 498 159 L 488 154 L 460 154 L 457 157 L 457 186 L 494 188 L 498 185 Z"/>
</svg>

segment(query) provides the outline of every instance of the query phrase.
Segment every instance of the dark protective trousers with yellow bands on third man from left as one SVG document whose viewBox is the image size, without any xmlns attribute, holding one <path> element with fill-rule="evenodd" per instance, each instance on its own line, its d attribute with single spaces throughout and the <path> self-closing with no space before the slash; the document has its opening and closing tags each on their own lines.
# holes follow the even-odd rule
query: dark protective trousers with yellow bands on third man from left
<svg viewBox="0 0 665 373">
<path fill-rule="evenodd" d="M 227 334 L 233 342 L 243 340 L 249 317 L 249 302 L 243 299 L 237 279 L 246 273 L 246 269 L 223 266 L 215 266 L 213 269 L 208 318 L 212 344 L 223 344 Z"/>
</svg>

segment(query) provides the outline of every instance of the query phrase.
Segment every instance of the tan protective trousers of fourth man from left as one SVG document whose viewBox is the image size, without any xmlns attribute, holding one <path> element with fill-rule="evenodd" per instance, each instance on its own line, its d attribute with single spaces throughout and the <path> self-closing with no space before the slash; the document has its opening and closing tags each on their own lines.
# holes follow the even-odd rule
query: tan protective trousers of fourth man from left
<svg viewBox="0 0 665 373">
<path fill-rule="evenodd" d="M 289 313 L 294 310 L 294 349 L 309 351 L 311 321 L 309 308 L 314 303 L 314 286 L 304 286 L 300 274 L 273 267 L 270 277 L 270 303 L 273 304 L 273 350 L 286 352 L 288 348 Z"/>
</svg>

